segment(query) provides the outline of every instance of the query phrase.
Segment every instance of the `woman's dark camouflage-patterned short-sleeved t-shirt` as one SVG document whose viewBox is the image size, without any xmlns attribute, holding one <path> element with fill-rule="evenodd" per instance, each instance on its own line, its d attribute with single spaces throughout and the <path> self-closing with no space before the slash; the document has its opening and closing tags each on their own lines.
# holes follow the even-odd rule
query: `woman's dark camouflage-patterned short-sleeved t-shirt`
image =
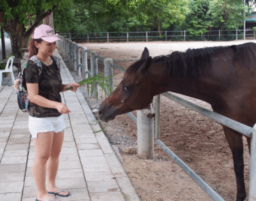
<svg viewBox="0 0 256 201">
<path fill-rule="evenodd" d="M 47 98 L 50 101 L 62 103 L 62 97 L 59 94 L 62 86 L 62 77 L 60 71 L 53 59 L 52 65 L 44 65 L 42 62 L 42 73 L 39 77 L 38 66 L 35 62 L 29 60 L 25 72 L 26 83 L 38 83 L 38 95 Z M 30 102 L 29 115 L 33 117 L 53 117 L 62 115 L 58 110 L 47 107 L 40 107 Z"/>
</svg>

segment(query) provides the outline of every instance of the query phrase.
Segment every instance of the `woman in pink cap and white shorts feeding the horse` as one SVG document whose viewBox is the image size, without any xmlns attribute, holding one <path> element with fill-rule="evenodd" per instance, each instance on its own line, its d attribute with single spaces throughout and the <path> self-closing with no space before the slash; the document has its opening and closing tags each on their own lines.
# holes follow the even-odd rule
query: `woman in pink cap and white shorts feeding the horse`
<svg viewBox="0 0 256 201">
<path fill-rule="evenodd" d="M 59 167 L 59 154 L 62 150 L 65 123 L 63 114 L 70 113 L 62 104 L 59 92 L 72 86 L 76 92 L 77 83 L 62 84 L 56 57 L 56 37 L 53 28 L 41 25 L 35 28 L 29 42 L 29 58 L 35 55 L 42 63 L 41 77 L 38 66 L 31 59 L 26 67 L 26 86 L 29 95 L 29 131 L 35 145 L 33 175 L 38 188 L 37 201 L 55 200 L 53 195 L 69 196 L 67 190 L 56 187 L 56 175 Z M 47 185 L 46 185 L 47 180 Z"/>
</svg>

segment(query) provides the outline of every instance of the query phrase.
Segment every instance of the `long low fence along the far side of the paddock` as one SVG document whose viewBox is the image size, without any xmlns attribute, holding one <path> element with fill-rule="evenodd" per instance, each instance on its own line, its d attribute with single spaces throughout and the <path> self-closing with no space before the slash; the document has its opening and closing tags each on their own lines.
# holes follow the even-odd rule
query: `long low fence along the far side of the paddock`
<svg viewBox="0 0 256 201">
<path fill-rule="evenodd" d="M 124 41 L 189 41 L 210 40 L 228 41 L 254 39 L 252 29 L 209 30 L 204 34 L 194 35 L 189 31 L 132 31 L 132 32 L 101 32 L 101 33 L 63 33 L 76 43 L 85 42 L 124 42 Z"/>
</svg>

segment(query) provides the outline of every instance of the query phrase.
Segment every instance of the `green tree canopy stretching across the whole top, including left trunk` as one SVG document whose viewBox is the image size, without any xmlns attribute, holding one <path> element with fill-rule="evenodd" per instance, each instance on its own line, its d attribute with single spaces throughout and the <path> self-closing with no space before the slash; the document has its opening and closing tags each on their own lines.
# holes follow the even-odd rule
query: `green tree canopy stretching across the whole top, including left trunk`
<svg viewBox="0 0 256 201">
<path fill-rule="evenodd" d="M 2 0 L 2 26 L 14 55 L 26 47 L 41 21 L 53 12 L 56 31 L 87 34 L 101 31 L 185 29 L 200 35 L 214 29 L 242 28 L 254 0 Z"/>
</svg>

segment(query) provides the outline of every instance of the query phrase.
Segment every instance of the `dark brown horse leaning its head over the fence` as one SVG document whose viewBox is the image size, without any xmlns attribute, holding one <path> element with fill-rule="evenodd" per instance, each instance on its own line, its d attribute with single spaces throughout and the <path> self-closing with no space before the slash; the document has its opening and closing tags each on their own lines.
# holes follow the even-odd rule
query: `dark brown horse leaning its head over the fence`
<svg viewBox="0 0 256 201">
<path fill-rule="evenodd" d="M 140 61 L 125 72 L 116 90 L 101 104 L 101 120 L 147 107 L 155 95 L 176 92 L 211 104 L 215 113 L 250 127 L 256 123 L 256 44 L 188 49 Z M 233 154 L 236 201 L 246 197 L 242 134 L 224 127 Z M 247 137 L 250 150 L 251 139 Z"/>
</svg>

